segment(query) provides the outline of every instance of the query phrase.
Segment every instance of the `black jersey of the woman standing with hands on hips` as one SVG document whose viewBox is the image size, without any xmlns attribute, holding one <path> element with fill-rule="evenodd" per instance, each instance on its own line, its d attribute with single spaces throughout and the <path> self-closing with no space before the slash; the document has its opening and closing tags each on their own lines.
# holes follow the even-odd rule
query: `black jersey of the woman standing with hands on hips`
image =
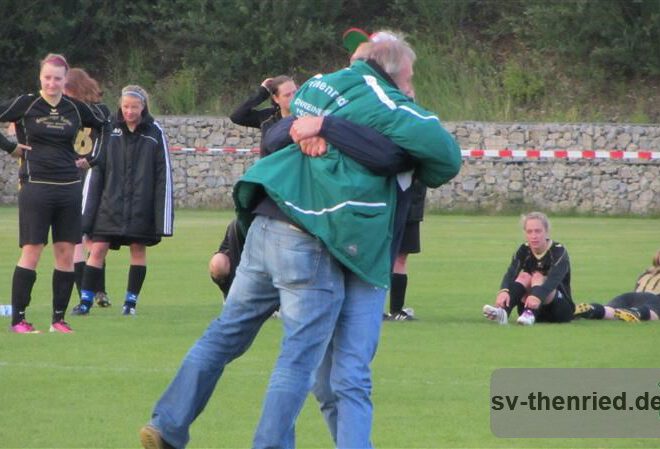
<svg viewBox="0 0 660 449">
<path fill-rule="evenodd" d="M 62 96 L 57 105 L 40 95 L 21 95 L 0 103 L 0 121 L 16 122 L 19 142 L 32 147 L 23 156 L 21 181 L 73 183 L 80 181 L 74 143 L 83 127 L 100 132 L 109 120 L 89 105 Z"/>
</svg>

